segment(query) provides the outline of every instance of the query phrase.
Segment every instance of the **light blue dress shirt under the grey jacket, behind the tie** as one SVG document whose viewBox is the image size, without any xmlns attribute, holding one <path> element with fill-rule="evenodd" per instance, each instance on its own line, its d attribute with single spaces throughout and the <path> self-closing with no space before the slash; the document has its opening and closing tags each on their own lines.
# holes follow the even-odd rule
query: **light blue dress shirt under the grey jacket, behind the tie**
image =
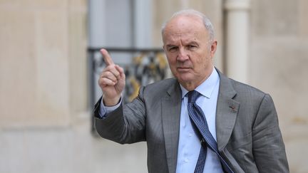
<svg viewBox="0 0 308 173">
<path fill-rule="evenodd" d="M 214 68 L 210 77 L 195 88 L 195 90 L 201 94 L 201 96 L 197 98 L 196 103 L 204 112 L 207 125 L 215 140 L 215 117 L 217 96 L 220 85 L 219 83 L 220 78 Z M 188 97 L 185 96 L 188 93 L 188 90 L 183 88 L 182 85 L 180 85 L 180 88 L 182 90 L 182 106 L 180 112 L 180 139 L 178 145 L 178 163 L 176 172 L 194 172 L 197 159 L 199 157 L 201 144 L 198 136 L 193 130 L 193 126 L 188 115 Z M 212 150 L 208 147 L 203 172 L 223 172 L 220 159 L 217 157 L 217 154 L 212 152 Z"/>
</svg>

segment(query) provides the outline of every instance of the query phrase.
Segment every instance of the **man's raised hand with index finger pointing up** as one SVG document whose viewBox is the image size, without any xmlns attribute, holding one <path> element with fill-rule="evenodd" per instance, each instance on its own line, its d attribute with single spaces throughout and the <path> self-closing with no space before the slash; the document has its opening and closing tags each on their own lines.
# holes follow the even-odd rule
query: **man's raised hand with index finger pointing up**
<svg viewBox="0 0 308 173">
<path fill-rule="evenodd" d="M 113 106 L 118 104 L 121 93 L 125 87 L 125 73 L 123 68 L 113 63 L 111 56 L 106 49 L 101 49 L 106 68 L 98 79 L 98 85 L 100 85 L 103 91 L 103 102 L 106 106 Z"/>
</svg>

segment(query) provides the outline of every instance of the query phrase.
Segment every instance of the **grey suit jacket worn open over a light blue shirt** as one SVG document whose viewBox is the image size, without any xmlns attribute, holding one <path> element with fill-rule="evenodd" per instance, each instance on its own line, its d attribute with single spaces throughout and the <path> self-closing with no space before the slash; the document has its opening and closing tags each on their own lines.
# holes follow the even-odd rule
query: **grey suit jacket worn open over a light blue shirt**
<svg viewBox="0 0 308 173">
<path fill-rule="evenodd" d="M 217 147 L 234 172 L 289 172 L 277 113 L 270 95 L 220 75 Z M 148 172 L 175 172 L 181 90 L 175 78 L 140 88 L 132 103 L 99 119 L 96 130 L 120 144 L 146 141 Z"/>
</svg>

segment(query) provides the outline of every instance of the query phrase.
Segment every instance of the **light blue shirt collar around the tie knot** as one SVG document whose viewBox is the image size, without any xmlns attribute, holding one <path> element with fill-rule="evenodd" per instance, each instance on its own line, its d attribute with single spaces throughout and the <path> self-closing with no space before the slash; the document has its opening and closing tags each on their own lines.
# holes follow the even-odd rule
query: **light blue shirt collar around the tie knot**
<svg viewBox="0 0 308 173">
<path fill-rule="evenodd" d="M 204 95 L 206 98 L 210 98 L 219 80 L 220 78 L 217 73 L 217 70 L 213 68 L 212 74 L 207 78 L 207 80 L 205 80 L 203 83 L 197 86 L 195 90 L 197 90 L 197 92 L 199 92 L 200 94 Z M 185 95 L 188 93 L 188 90 L 186 90 L 181 84 L 180 88 L 182 90 L 182 99 L 183 99 Z"/>
</svg>

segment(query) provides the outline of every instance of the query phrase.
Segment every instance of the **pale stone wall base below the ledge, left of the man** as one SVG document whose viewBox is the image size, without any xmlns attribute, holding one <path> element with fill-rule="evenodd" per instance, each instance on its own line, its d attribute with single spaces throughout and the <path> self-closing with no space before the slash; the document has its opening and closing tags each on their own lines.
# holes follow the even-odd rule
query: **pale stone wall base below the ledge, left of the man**
<svg viewBox="0 0 308 173">
<path fill-rule="evenodd" d="M 119 145 L 93 137 L 89 129 L 83 122 L 61 128 L 1 130 L 0 172 L 147 172 L 145 142 Z"/>
</svg>

